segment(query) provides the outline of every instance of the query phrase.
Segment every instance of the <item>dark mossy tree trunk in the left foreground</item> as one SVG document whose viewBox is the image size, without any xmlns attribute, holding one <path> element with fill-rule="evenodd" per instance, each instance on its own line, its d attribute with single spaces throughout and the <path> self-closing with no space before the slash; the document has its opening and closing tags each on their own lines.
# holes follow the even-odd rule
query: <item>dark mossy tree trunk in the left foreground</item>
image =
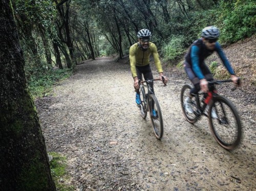
<svg viewBox="0 0 256 191">
<path fill-rule="evenodd" d="M 0 190 L 56 190 L 9 0 L 0 0 Z"/>
</svg>

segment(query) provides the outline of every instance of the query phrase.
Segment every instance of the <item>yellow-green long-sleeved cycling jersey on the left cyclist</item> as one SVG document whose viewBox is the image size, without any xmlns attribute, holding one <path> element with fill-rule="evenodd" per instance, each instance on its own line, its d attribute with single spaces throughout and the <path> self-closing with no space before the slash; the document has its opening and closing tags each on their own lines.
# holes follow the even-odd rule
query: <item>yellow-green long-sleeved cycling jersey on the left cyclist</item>
<svg viewBox="0 0 256 191">
<path fill-rule="evenodd" d="M 130 65 L 133 78 L 137 77 L 136 66 L 145 66 L 150 63 L 150 55 L 153 55 L 157 70 L 159 73 L 163 72 L 162 65 L 157 52 L 157 46 L 153 42 L 149 43 L 149 47 L 146 51 L 142 51 L 139 47 L 139 43 L 135 43 L 130 47 Z"/>
</svg>

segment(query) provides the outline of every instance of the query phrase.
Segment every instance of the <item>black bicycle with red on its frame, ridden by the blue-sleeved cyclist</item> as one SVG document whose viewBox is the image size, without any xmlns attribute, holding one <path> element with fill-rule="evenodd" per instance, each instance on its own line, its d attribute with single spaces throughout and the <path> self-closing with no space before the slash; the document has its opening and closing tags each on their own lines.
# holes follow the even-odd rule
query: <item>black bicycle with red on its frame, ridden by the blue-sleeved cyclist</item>
<svg viewBox="0 0 256 191">
<path fill-rule="evenodd" d="M 236 107 L 228 98 L 217 93 L 215 85 L 224 82 L 232 82 L 232 80 L 208 82 L 208 93 L 199 92 L 191 99 L 193 113 L 188 113 L 184 105 L 184 101 L 189 96 L 193 86 L 185 84 L 181 89 L 181 107 L 186 120 L 191 124 L 196 123 L 202 115 L 207 116 L 211 133 L 218 144 L 226 150 L 232 150 L 240 144 L 242 127 Z M 202 106 L 200 100 L 202 100 Z M 212 112 L 212 110 L 214 111 Z"/>
</svg>

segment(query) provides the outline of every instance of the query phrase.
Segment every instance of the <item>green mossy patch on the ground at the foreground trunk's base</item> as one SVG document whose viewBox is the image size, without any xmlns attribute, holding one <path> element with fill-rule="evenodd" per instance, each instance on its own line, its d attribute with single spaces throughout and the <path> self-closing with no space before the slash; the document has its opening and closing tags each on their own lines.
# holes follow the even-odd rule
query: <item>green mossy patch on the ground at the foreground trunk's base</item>
<svg viewBox="0 0 256 191">
<path fill-rule="evenodd" d="M 75 190 L 74 186 L 65 183 L 65 181 L 68 181 L 70 179 L 66 171 L 67 158 L 59 153 L 54 152 L 49 153 L 49 155 L 53 157 L 53 159 L 50 161 L 50 169 L 57 190 Z"/>
</svg>

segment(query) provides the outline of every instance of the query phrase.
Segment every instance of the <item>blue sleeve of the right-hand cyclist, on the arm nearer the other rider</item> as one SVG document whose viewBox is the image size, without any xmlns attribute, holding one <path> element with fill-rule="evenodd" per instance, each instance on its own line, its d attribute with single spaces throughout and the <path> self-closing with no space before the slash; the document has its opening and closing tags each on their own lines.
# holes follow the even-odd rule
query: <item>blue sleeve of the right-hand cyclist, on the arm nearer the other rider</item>
<svg viewBox="0 0 256 191">
<path fill-rule="evenodd" d="M 204 79 L 204 75 L 199 65 L 199 47 L 196 45 L 191 46 L 190 52 L 191 65 L 195 75 L 199 80 Z"/>
</svg>

